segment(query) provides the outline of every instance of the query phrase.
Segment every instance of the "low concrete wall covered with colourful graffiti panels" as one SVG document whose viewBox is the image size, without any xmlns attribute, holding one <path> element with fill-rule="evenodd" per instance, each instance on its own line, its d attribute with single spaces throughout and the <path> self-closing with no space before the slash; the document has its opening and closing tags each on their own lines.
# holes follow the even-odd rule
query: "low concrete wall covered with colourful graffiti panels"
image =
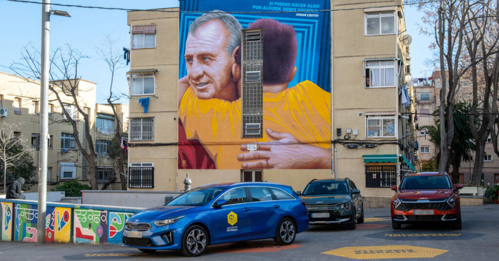
<svg viewBox="0 0 499 261">
<path fill-rule="evenodd" d="M 36 242 L 36 201 L 0 200 L 1 241 Z M 45 242 L 121 244 L 125 221 L 141 208 L 47 203 Z"/>
</svg>

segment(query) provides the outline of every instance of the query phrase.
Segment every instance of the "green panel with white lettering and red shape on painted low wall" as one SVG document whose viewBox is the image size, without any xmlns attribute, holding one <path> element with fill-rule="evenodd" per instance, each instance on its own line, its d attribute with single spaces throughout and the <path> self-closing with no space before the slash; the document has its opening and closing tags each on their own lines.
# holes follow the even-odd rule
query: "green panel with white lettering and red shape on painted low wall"
<svg viewBox="0 0 499 261">
<path fill-rule="evenodd" d="M 74 242 L 106 243 L 107 210 L 74 209 Z"/>
</svg>

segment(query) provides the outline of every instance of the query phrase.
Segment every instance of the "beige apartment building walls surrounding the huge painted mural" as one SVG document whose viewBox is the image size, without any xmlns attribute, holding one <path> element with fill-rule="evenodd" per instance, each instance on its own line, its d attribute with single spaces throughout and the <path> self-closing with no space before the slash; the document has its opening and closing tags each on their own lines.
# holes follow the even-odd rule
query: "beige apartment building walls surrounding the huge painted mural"
<svg viewBox="0 0 499 261">
<path fill-rule="evenodd" d="M 179 158 L 177 146 L 184 142 L 179 140 L 178 109 L 179 38 L 185 33 L 179 31 L 179 24 L 184 21 L 178 12 L 162 11 L 179 8 L 128 12 L 129 188 L 183 190 L 187 173 L 192 187 L 261 180 L 290 185 L 295 191 L 303 190 L 312 179 L 348 177 L 368 199 L 366 204 L 388 206 L 393 195 L 390 186 L 414 171 L 415 159 L 410 39 L 402 4 L 401 0 L 330 2 L 332 9 L 348 10 L 329 13 L 331 66 L 325 73 L 331 79 L 327 102 L 331 164 L 320 169 L 266 168 L 268 161 L 254 170 L 184 169 L 187 163 Z M 388 5 L 393 6 L 380 7 Z M 209 125 L 200 128 L 213 130 Z M 210 166 L 210 159 L 195 155 L 198 163 L 206 160 L 203 163 Z M 219 166 L 217 160 L 214 164 Z"/>
</svg>

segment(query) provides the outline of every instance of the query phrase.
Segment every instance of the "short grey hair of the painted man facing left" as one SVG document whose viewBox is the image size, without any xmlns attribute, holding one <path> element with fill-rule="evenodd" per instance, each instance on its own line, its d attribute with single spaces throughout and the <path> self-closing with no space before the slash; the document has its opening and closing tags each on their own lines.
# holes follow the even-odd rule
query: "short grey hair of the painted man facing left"
<svg viewBox="0 0 499 261">
<path fill-rule="evenodd" d="M 221 10 L 213 10 L 204 13 L 191 23 L 189 26 L 189 34 L 196 36 L 199 26 L 212 20 L 219 20 L 229 30 L 229 39 L 227 39 L 226 50 L 229 52 L 229 55 L 232 54 L 234 49 L 241 45 L 241 30 L 243 30 L 243 26 L 241 26 L 241 23 L 239 23 L 236 17 L 230 13 L 226 13 Z"/>
</svg>

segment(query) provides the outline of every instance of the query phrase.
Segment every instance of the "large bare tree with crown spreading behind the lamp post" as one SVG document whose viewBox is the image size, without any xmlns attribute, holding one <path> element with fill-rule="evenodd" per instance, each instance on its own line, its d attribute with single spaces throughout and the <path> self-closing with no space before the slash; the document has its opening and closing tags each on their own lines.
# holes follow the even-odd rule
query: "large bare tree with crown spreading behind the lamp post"
<svg viewBox="0 0 499 261">
<path fill-rule="evenodd" d="M 34 46 L 27 45 L 24 47 L 21 55 L 21 62 L 14 62 L 9 68 L 25 80 L 40 79 L 40 52 Z M 75 137 L 77 148 L 87 162 L 90 186 L 93 190 L 97 190 L 95 149 L 92 136 L 90 135 L 90 118 L 83 104 L 80 104 L 81 101 L 78 96 L 78 93 L 88 91 L 79 88 L 81 76 L 78 75 L 78 63 L 84 58 L 88 57 L 72 48 L 71 44 L 67 44 L 65 49 L 55 49 L 50 57 L 49 90 L 55 95 L 56 100 L 62 108 L 63 118 L 60 121 L 70 123 L 73 128 L 72 134 Z M 81 121 L 84 124 L 83 140 L 86 146 L 78 138 L 80 132 L 77 122 L 80 121 L 80 118 L 75 117 L 73 113 L 67 111 L 65 107 L 66 103 L 63 102 L 64 97 L 71 98 L 71 105 L 75 106 L 76 110 L 82 116 Z"/>
</svg>

